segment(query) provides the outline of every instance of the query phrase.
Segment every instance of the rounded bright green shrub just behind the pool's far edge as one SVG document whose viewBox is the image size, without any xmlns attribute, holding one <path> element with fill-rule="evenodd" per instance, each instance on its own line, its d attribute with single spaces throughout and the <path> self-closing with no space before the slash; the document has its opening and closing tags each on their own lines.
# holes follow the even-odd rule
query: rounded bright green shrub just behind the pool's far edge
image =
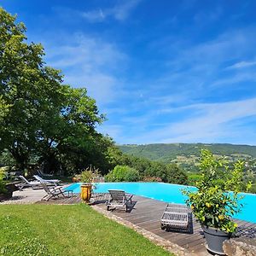
<svg viewBox="0 0 256 256">
<path fill-rule="evenodd" d="M 108 182 L 136 182 L 139 180 L 139 172 L 129 166 L 115 166 L 105 178 Z"/>
</svg>

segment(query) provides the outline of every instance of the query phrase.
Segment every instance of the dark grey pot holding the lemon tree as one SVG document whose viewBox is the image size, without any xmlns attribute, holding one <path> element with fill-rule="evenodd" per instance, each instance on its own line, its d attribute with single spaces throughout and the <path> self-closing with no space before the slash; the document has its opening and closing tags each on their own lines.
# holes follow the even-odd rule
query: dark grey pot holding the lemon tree
<svg viewBox="0 0 256 256">
<path fill-rule="evenodd" d="M 207 250 L 218 255 L 225 255 L 223 242 L 230 239 L 231 234 L 221 230 L 216 230 L 207 226 L 202 226 L 207 241 Z"/>
</svg>

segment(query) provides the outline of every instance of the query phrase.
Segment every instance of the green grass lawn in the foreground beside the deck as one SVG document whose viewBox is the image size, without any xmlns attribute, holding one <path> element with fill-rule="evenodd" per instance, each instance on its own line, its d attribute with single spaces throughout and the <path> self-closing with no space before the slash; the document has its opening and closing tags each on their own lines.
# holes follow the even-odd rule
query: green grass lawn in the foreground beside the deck
<svg viewBox="0 0 256 256">
<path fill-rule="evenodd" d="M 0 206 L 0 255 L 169 255 L 86 205 Z"/>
</svg>

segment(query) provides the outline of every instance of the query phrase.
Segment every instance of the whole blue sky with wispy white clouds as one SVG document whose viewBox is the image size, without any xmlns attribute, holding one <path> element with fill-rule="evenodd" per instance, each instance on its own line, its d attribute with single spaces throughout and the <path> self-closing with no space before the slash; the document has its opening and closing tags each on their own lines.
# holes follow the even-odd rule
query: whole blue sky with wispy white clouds
<svg viewBox="0 0 256 256">
<path fill-rule="evenodd" d="M 256 1 L 0 5 L 65 83 L 88 89 L 116 143 L 256 145 Z"/>
</svg>

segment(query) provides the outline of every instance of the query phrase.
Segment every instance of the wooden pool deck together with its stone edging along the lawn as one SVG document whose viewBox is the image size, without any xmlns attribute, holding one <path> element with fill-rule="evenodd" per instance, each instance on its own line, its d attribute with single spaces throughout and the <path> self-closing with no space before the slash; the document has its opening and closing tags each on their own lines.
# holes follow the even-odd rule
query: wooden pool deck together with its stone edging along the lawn
<svg viewBox="0 0 256 256">
<path fill-rule="evenodd" d="M 166 231 L 160 229 L 160 218 L 166 207 L 166 202 L 157 201 L 143 196 L 135 195 L 132 198 L 132 205 L 128 212 L 121 210 L 107 211 L 104 201 L 108 198 L 108 194 L 102 194 L 97 198 L 91 206 L 97 212 L 102 212 L 108 218 L 112 218 L 121 224 L 130 226 L 139 231 L 143 235 L 148 235 L 154 242 L 169 249 L 177 255 L 212 255 L 207 252 L 205 247 L 205 239 L 201 230 L 201 225 L 190 220 L 192 227 L 191 233 L 179 233 L 177 231 Z M 73 195 L 71 198 L 63 198 L 52 201 L 38 201 L 39 204 L 75 204 L 80 203 L 80 195 Z M 236 240 L 249 240 L 256 245 L 256 224 L 238 220 L 238 231 L 236 232 Z"/>
</svg>

